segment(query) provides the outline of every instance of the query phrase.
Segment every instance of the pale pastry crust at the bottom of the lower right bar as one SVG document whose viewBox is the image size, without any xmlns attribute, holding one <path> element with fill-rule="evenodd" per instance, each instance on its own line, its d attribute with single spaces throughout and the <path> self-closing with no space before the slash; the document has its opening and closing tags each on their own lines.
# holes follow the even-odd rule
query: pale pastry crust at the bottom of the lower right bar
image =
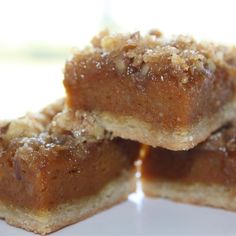
<svg viewBox="0 0 236 236">
<path fill-rule="evenodd" d="M 176 202 L 236 211 L 235 188 L 223 185 L 143 179 L 142 188 L 148 197 L 167 198 Z"/>
</svg>

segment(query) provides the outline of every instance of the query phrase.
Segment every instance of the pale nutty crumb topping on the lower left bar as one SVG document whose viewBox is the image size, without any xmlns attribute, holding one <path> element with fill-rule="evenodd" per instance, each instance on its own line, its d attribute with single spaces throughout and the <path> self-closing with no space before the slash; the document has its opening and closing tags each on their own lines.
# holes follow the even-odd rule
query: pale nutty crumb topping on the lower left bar
<svg viewBox="0 0 236 236">
<path fill-rule="evenodd" d="M 60 100 L 38 114 L 0 122 L 0 158 L 11 153 L 13 160 L 43 163 L 62 152 L 84 158 L 91 145 L 105 138 L 93 117 L 67 110 Z"/>
</svg>

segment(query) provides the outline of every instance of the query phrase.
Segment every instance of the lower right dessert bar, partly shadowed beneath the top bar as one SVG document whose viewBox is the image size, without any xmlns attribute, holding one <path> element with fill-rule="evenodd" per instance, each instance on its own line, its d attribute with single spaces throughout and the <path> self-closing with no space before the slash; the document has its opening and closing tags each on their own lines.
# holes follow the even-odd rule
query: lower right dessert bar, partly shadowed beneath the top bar
<svg viewBox="0 0 236 236">
<path fill-rule="evenodd" d="M 236 124 L 189 151 L 149 148 L 142 184 L 148 196 L 236 211 Z"/>
</svg>

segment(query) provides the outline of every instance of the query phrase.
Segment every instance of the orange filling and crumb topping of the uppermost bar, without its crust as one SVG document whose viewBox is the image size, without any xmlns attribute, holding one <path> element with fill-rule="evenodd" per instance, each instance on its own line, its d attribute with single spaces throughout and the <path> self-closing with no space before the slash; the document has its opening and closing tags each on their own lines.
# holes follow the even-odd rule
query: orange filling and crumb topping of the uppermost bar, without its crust
<svg viewBox="0 0 236 236">
<path fill-rule="evenodd" d="M 233 49 L 157 36 L 95 38 L 92 50 L 76 54 L 66 65 L 68 105 L 178 130 L 233 99 Z"/>
</svg>

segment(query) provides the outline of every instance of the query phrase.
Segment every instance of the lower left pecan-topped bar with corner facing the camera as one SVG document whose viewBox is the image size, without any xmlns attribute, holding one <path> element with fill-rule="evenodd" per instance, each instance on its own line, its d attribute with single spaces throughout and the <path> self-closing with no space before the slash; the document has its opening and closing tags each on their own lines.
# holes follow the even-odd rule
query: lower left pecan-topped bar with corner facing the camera
<svg viewBox="0 0 236 236">
<path fill-rule="evenodd" d="M 62 109 L 59 102 L 0 125 L 0 217 L 40 234 L 111 207 L 135 189 L 138 144 L 109 140 L 85 117 L 79 130 L 78 114 L 76 132 L 64 129 Z"/>
</svg>

